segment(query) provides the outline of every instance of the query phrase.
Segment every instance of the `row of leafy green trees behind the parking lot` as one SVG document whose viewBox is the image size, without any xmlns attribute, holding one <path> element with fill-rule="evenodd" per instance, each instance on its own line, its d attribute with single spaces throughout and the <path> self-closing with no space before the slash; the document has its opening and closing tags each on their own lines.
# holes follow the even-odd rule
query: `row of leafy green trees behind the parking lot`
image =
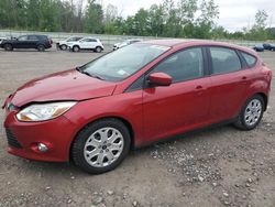
<svg viewBox="0 0 275 207">
<path fill-rule="evenodd" d="M 218 25 L 218 18 L 215 0 L 163 0 L 128 18 L 116 6 L 103 8 L 96 0 L 0 1 L 0 29 L 187 39 L 275 39 L 275 29 L 267 28 L 268 14 L 264 10 L 257 11 L 252 26 L 233 33 Z"/>
</svg>

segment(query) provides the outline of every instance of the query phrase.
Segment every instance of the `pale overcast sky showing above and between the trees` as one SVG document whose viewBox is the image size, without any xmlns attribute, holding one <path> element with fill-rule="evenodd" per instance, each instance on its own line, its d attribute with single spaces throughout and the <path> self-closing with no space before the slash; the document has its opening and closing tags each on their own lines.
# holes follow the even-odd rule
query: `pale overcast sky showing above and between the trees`
<svg viewBox="0 0 275 207">
<path fill-rule="evenodd" d="M 177 0 L 175 0 L 177 1 Z M 109 3 L 118 7 L 122 17 L 133 15 L 140 8 L 148 9 L 163 0 L 101 0 L 103 7 Z M 215 0 L 219 6 L 220 19 L 218 23 L 229 31 L 238 31 L 254 23 L 254 15 L 258 9 L 268 13 L 268 25 L 275 26 L 274 0 Z"/>
</svg>

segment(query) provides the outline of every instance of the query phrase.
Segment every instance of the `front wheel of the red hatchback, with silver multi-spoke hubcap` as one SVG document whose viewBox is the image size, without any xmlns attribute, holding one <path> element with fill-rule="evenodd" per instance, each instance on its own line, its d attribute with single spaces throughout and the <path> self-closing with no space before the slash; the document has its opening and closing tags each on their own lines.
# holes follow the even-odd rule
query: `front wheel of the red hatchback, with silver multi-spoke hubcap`
<svg viewBox="0 0 275 207">
<path fill-rule="evenodd" d="M 82 171 L 100 174 L 116 168 L 124 160 L 130 142 L 130 133 L 123 122 L 103 119 L 85 127 L 78 133 L 70 154 L 74 163 Z"/>
</svg>

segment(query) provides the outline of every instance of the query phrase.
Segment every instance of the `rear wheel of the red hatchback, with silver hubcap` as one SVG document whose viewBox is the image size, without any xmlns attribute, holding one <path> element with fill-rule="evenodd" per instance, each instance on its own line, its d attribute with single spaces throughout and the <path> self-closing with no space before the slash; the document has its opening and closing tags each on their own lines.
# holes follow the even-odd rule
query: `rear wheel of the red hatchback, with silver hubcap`
<svg viewBox="0 0 275 207">
<path fill-rule="evenodd" d="M 260 95 L 254 95 L 242 107 L 234 126 L 241 130 L 252 130 L 258 124 L 263 113 L 264 99 Z"/>
</svg>

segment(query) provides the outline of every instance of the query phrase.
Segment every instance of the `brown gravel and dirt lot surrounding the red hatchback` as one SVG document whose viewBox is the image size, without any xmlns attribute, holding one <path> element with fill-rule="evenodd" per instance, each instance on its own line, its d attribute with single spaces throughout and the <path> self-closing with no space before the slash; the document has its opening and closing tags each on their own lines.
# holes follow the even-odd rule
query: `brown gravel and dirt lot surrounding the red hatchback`
<svg viewBox="0 0 275 207">
<path fill-rule="evenodd" d="M 0 51 L 0 102 L 31 78 L 73 68 L 98 55 Z M 261 56 L 275 69 L 275 52 Z M 0 206 L 273 207 L 274 103 L 275 80 L 268 110 L 255 130 L 243 132 L 226 126 L 183 135 L 131 152 L 120 167 L 97 176 L 68 163 L 28 161 L 8 154 L 1 110 Z"/>
</svg>

